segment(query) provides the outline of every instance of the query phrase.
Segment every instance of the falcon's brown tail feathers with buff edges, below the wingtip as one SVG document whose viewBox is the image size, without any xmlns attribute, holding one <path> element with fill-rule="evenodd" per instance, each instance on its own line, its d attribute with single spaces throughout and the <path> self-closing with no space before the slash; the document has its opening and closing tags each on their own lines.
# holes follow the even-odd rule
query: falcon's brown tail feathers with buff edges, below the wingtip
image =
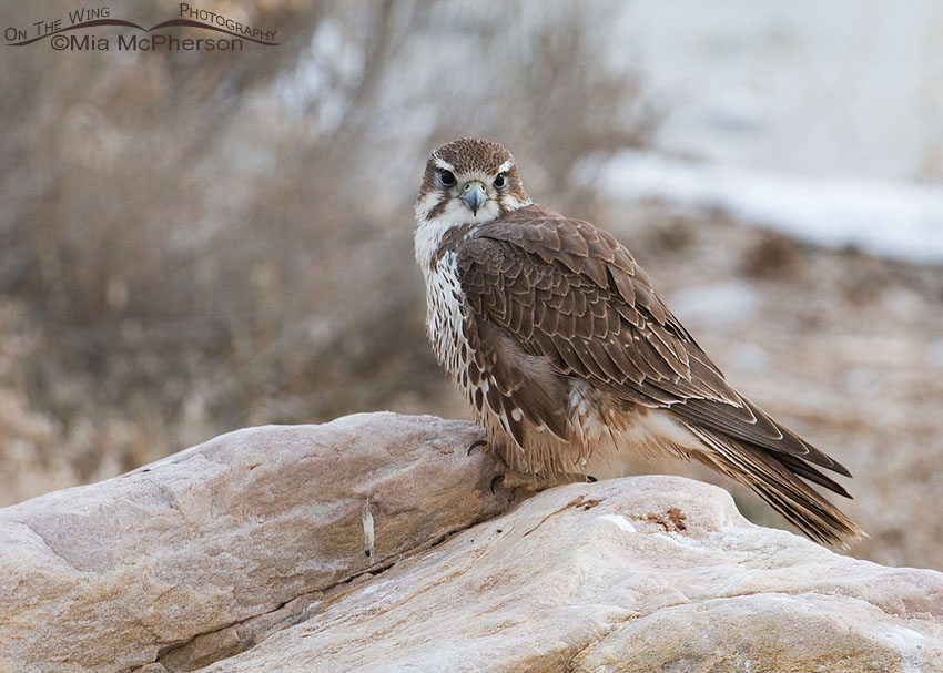
<svg viewBox="0 0 943 673">
<path fill-rule="evenodd" d="M 858 524 L 800 479 L 809 479 L 850 497 L 840 485 L 812 466 L 794 457 L 783 461 L 772 451 L 719 432 L 696 426 L 688 426 L 688 429 L 708 447 L 706 451 L 691 451 L 691 458 L 752 489 L 809 539 L 846 549 L 848 541 L 868 537 Z"/>
</svg>

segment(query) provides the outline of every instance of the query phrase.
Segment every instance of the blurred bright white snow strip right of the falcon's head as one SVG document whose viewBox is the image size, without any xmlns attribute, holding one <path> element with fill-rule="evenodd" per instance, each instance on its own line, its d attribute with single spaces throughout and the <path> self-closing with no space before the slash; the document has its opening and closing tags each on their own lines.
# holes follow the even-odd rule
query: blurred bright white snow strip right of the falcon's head
<svg viewBox="0 0 943 673">
<path fill-rule="evenodd" d="M 943 263 L 943 188 L 850 177 L 800 177 L 625 151 L 590 157 L 578 177 L 623 201 L 718 210 L 825 247 Z"/>
</svg>

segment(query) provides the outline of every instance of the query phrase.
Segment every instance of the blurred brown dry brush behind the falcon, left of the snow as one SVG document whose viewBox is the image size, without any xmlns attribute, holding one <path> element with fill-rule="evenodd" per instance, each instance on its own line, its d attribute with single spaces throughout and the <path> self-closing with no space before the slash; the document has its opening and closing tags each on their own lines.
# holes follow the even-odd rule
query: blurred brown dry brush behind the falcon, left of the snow
<svg viewBox="0 0 943 673">
<path fill-rule="evenodd" d="M 513 31 L 519 10 L 464 2 L 201 7 L 284 45 L 6 52 L 3 502 L 246 425 L 428 409 L 446 384 L 412 252 L 426 153 L 500 137 L 559 185 L 581 151 L 648 133 L 637 77 L 596 72 L 600 35 L 568 3 Z"/>
</svg>

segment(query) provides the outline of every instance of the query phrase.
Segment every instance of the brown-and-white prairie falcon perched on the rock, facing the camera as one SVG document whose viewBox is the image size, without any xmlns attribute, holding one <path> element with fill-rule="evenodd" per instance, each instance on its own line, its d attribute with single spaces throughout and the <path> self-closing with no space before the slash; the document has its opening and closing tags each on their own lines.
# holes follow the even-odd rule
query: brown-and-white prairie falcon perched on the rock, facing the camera
<svg viewBox="0 0 943 673">
<path fill-rule="evenodd" d="M 510 470 L 619 476 L 627 451 L 694 459 L 809 538 L 863 531 L 808 482 L 850 477 L 734 390 L 607 232 L 534 204 L 514 156 L 463 139 L 429 156 L 416 201 L 429 339 Z"/>
</svg>

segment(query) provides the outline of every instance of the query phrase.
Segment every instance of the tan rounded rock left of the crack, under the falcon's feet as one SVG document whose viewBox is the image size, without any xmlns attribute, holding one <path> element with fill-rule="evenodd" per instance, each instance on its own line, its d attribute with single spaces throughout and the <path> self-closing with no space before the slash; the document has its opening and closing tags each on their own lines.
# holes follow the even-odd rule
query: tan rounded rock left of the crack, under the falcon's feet
<svg viewBox="0 0 943 673">
<path fill-rule="evenodd" d="M 480 437 L 393 414 L 254 428 L 2 509 L 0 672 L 235 654 L 332 588 L 506 509 L 495 465 L 466 456 Z"/>
</svg>

